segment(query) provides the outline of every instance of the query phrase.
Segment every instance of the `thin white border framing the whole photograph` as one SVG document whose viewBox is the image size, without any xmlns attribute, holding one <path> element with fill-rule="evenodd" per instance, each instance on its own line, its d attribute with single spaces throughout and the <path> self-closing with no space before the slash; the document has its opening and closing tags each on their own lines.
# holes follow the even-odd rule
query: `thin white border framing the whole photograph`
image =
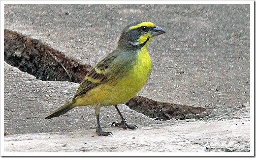
<svg viewBox="0 0 256 158">
<path fill-rule="evenodd" d="M 62 152 L 26 152 L 26 153 L 10 153 L 4 152 L 3 150 L 3 93 L 4 93 L 4 64 L 3 64 L 3 32 L 4 32 L 4 4 L 250 4 L 250 111 L 251 111 L 251 152 L 250 153 L 124 153 L 115 152 L 115 153 L 62 153 Z M 254 0 L 88 0 L 88 1 L 80 1 L 80 0 L 1 0 L 0 1 L 0 39 L 1 39 L 1 47 L 0 47 L 0 153 L 1 156 L 254 156 Z M 246 73 L 246 72 L 245 72 Z"/>
</svg>

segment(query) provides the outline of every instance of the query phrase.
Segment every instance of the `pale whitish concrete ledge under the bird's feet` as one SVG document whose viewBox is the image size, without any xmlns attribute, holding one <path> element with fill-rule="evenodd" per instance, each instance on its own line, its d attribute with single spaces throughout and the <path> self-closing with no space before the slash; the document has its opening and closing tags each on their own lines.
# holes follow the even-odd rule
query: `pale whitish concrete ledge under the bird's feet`
<svg viewBox="0 0 256 158">
<path fill-rule="evenodd" d="M 4 137 L 4 152 L 250 152 L 250 118 Z M 243 131 L 243 132 L 241 132 Z"/>
</svg>

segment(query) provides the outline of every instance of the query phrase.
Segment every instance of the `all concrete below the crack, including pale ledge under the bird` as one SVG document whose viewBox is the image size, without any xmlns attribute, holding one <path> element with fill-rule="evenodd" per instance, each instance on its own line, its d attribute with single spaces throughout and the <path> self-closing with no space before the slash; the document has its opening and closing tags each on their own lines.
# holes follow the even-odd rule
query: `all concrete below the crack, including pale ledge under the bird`
<svg viewBox="0 0 256 158">
<path fill-rule="evenodd" d="M 120 105 L 135 131 L 110 127 L 119 116 L 114 107 L 101 110 L 103 130 L 97 136 L 92 106 L 79 107 L 53 120 L 43 118 L 64 104 L 77 83 L 41 81 L 4 64 L 4 154 L 9 152 L 250 152 L 250 106 L 232 119 L 154 121 Z M 19 79 L 19 82 L 16 80 Z M 29 87 L 29 88 L 28 88 Z M 12 100 L 9 100 L 12 98 Z M 64 100 L 60 100 L 63 98 Z M 99 154 L 100 155 L 100 154 Z"/>
</svg>

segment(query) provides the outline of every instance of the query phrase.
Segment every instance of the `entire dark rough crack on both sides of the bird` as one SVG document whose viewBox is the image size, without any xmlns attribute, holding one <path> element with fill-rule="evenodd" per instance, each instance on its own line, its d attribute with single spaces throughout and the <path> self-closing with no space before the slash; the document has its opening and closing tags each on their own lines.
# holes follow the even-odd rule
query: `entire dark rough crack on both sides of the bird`
<svg viewBox="0 0 256 158">
<path fill-rule="evenodd" d="M 80 83 L 92 67 L 79 64 L 43 44 L 20 33 L 4 29 L 4 61 L 41 80 L 72 81 Z M 154 101 L 136 96 L 126 105 L 144 115 L 169 120 L 202 118 L 205 108 Z"/>
</svg>

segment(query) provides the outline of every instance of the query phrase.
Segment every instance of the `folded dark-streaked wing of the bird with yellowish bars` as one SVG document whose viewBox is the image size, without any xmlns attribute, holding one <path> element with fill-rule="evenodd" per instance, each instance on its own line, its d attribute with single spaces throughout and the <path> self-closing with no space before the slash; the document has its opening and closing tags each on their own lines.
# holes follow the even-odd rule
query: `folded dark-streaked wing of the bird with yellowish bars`
<svg viewBox="0 0 256 158">
<path fill-rule="evenodd" d="M 101 60 L 96 65 L 95 69 L 91 70 L 80 83 L 74 98 L 82 94 L 86 94 L 96 86 L 108 81 L 111 77 L 111 73 L 109 73 L 108 69 L 116 57 L 116 55 L 111 53 Z"/>
</svg>

